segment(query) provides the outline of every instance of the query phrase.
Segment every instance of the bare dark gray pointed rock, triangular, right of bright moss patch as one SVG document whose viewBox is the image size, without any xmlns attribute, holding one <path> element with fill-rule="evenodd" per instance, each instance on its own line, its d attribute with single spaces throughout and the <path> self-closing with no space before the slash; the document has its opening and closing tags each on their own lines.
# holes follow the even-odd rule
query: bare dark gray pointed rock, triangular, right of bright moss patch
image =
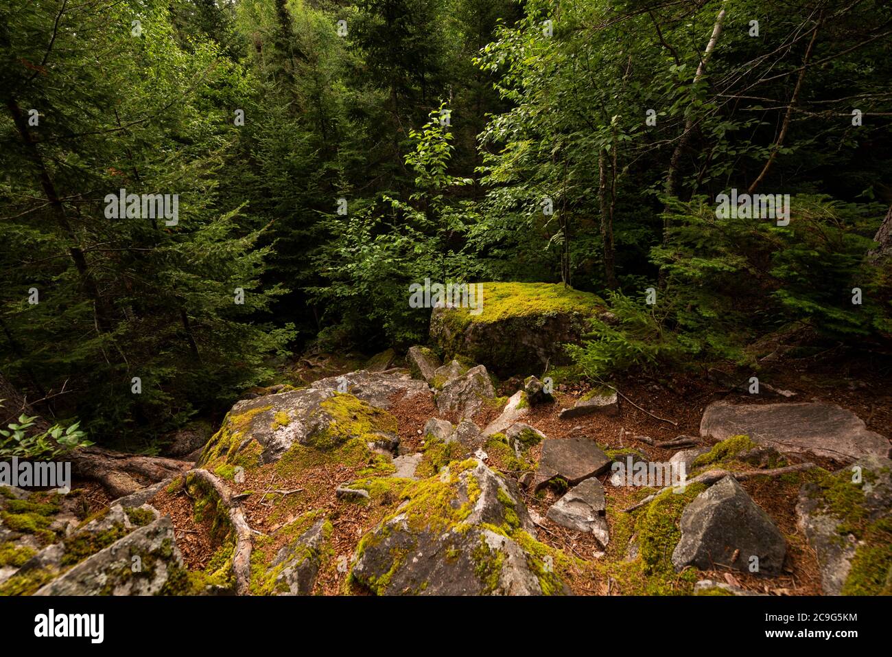
<svg viewBox="0 0 892 657">
<path fill-rule="evenodd" d="M 732 562 L 734 553 L 738 557 Z M 780 573 L 787 542 L 768 514 L 733 477 L 725 477 L 694 498 L 681 513 L 681 539 L 672 554 L 675 570 L 727 566 L 748 572 L 759 559 L 760 575 Z"/>
</svg>

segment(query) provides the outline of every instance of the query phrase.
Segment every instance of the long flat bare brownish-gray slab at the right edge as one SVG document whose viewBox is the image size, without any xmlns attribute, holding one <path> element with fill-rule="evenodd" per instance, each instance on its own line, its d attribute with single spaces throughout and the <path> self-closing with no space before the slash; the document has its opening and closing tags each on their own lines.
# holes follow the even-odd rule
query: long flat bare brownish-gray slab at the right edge
<svg viewBox="0 0 892 657">
<path fill-rule="evenodd" d="M 724 440 L 740 434 L 780 452 L 814 453 L 843 462 L 889 455 L 887 438 L 835 403 L 714 402 L 706 407 L 700 436 Z"/>
</svg>

